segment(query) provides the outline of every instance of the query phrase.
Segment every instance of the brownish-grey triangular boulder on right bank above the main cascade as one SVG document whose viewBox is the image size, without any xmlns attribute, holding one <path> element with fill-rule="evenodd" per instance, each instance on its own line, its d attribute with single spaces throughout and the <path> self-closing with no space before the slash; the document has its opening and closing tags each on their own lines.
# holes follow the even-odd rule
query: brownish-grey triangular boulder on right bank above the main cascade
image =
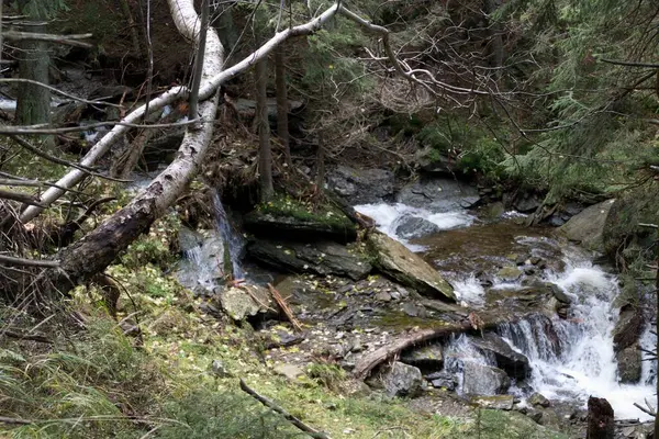
<svg viewBox="0 0 659 439">
<path fill-rule="evenodd" d="M 559 232 L 568 239 L 581 243 L 589 250 L 604 251 L 602 234 L 606 225 L 608 212 L 616 200 L 606 200 L 594 204 L 572 216 Z"/>
</svg>

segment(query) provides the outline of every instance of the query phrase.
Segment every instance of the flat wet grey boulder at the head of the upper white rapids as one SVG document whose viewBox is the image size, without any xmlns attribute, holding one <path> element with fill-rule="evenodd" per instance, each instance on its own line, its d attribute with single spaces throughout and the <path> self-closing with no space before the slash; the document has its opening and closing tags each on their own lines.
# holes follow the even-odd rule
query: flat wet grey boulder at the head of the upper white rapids
<svg viewBox="0 0 659 439">
<path fill-rule="evenodd" d="M 432 212 L 468 209 L 480 201 L 478 189 L 456 180 L 420 180 L 405 185 L 396 196 L 399 203 Z"/>
</svg>

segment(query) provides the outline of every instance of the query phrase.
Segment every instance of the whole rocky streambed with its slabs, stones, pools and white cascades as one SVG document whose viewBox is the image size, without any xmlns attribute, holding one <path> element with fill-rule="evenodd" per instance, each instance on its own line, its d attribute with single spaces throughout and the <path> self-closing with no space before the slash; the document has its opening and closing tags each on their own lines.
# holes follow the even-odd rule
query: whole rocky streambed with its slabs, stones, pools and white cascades
<svg viewBox="0 0 659 439">
<path fill-rule="evenodd" d="M 654 398 L 656 365 L 638 350 L 654 336 L 646 316 L 619 302 L 615 273 L 594 254 L 555 228 L 522 226 L 516 211 L 479 205 L 482 194 L 454 181 L 377 195 L 357 198 L 356 210 L 380 230 L 366 236 L 343 219 L 319 226 L 255 214 L 248 260 L 267 270 L 246 268 L 247 292 L 209 286 L 206 275 L 208 306 L 255 325 L 266 361 L 291 380 L 328 362 L 366 379 L 355 392 L 409 397 L 443 415 L 518 410 L 570 436 L 591 395 L 607 398 L 618 419 L 647 418 L 633 404 Z M 573 219 L 567 236 L 578 222 L 589 239 L 597 234 L 593 219 Z M 272 313 L 266 283 L 302 331 Z M 624 423 L 625 437 L 647 428 Z"/>
</svg>

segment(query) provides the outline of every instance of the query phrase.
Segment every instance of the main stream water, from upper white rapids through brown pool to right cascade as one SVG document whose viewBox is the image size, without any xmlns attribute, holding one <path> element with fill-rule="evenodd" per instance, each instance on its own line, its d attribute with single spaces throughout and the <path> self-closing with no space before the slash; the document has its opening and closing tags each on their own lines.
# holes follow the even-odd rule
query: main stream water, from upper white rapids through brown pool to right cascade
<svg viewBox="0 0 659 439">
<path fill-rule="evenodd" d="M 567 319 L 538 314 L 499 327 L 499 335 L 514 350 L 524 353 L 532 364 L 527 383 L 532 390 L 513 385 L 511 392 L 526 397 L 535 391 L 550 399 L 582 407 L 591 395 L 605 397 L 617 418 L 648 418 L 633 404 L 645 405 L 645 398 L 656 401 L 656 362 L 643 362 L 643 378 L 638 384 L 618 383 L 612 335 L 618 318 L 618 309 L 614 306 L 619 294 L 617 279 L 594 264 L 592 255 L 559 243 L 550 229 L 515 225 L 510 219 L 515 214 L 504 215 L 509 219 L 488 224 L 467 212 L 434 214 L 400 204 L 356 206 L 356 210 L 372 216 L 382 232 L 399 239 L 396 224 L 404 221 L 405 215 L 436 221 L 435 224 L 446 232 L 405 244 L 434 262 L 454 285 L 459 301 L 471 308 L 489 306 L 496 309 L 503 292 L 523 289 L 524 274 L 514 281 L 504 281 L 496 275 L 501 267 L 515 264 L 511 259 L 515 260 L 516 255 L 543 258 L 547 267 L 537 270 L 534 278 L 560 286 L 572 304 Z M 465 360 L 495 364 L 469 340 L 461 336 L 445 346 L 445 370 L 457 373 L 458 392 L 462 389 L 460 364 Z M 652 348 L 655 344 L 656 337 L 646 328 L 641 347 Z"/>
</svg>

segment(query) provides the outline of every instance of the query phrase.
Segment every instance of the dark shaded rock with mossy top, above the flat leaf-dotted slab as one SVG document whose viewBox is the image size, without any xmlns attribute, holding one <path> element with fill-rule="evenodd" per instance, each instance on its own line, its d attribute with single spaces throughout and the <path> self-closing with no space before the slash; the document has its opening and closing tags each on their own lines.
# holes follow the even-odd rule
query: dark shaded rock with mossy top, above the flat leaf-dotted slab
<svg viewBox="0 0 659 439">
<path fill-rule="evenodd" d="M 253 211 L 245 215 L 245 229 L 257 236 L 298 241 L 334 240 L 351 243 L 357 238 L 355 224 L 342 213 L 330 216 L 306 217 L 280 216 L 268 212 Z"/>
</svg>

